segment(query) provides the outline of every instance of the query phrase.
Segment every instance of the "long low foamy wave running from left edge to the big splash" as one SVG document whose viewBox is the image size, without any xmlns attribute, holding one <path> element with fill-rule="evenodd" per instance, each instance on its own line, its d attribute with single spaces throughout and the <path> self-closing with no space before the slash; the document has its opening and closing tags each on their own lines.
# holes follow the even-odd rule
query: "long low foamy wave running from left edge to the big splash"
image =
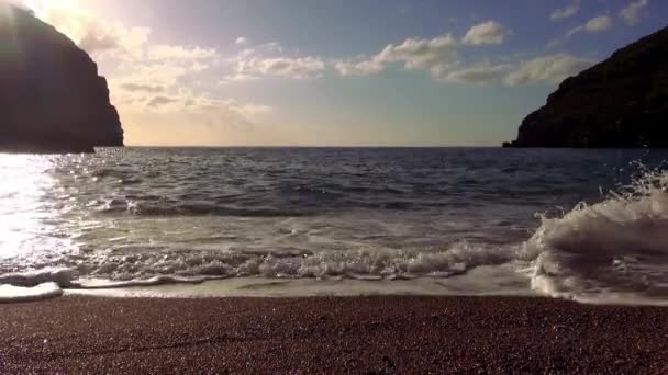
<svg viewBox="0 0 668 375">
<path fill-rule="evenodd" d="M 144 252 L 118 249 L 76 266 L 0 276 L 0 284 L 63 289 L 126 288 L 164 284 L 198 284 L 229 277 L 412 280 L 446 279 L 480 265 L 512 260 L 512 249 L 458 242 L 438 250 L 360 250 L 311 252 L 301 249 Z M 1 296 L 0 296 L 1 299 Z"/>
</svg>

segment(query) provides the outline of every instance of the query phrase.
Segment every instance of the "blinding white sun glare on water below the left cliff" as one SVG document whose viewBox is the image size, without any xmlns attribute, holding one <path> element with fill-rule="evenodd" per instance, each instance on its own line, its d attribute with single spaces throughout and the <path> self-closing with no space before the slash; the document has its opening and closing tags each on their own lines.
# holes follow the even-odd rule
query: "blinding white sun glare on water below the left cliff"
<svg viewBox="0 0 668 375">
<path fill-rule="evenodd" d="M 0 261 L 32 258 L 53 241 L 45 223 L 54 215 L 46 201 L 54 158 L 0 154 Z"/>
</svg>

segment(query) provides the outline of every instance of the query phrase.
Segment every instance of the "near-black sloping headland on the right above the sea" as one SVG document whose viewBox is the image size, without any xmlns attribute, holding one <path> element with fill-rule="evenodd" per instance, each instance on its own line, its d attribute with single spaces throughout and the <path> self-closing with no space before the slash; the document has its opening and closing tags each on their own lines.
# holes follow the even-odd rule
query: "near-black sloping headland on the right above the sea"
<svg viewBox="0 0 668 375">
<path fill-rule="evenodd" d="M 668 27 L 566 79 L 511 147 L 668 147 Z"/>
</svg>

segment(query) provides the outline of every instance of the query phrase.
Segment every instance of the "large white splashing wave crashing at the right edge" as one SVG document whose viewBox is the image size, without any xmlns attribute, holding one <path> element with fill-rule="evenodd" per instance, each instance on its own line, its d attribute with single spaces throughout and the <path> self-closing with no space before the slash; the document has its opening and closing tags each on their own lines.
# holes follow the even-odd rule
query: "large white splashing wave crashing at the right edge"
<svg viewBox="0 0 668 375">
<path fill-rule="evenodd" d="M 668 173 L 646 171 L 603 202 L 543 216 L 519 257 L 544 295 L 668 302 Z"/>
</svg>

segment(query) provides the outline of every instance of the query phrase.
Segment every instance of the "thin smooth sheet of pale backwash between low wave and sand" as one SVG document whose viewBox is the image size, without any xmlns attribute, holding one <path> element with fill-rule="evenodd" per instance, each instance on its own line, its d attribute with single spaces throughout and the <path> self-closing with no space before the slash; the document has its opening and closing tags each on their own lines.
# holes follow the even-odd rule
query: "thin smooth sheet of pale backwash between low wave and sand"
<svg viewBox="0 0 668 375">
<path fill-rule="evenodd" d="M 468 274 L 448 279 L 412 280 L 353 279 L 265 279 L 232 277 L 200 284 L 163 284 L 144 287 L 67 289 L 70 295 L 103 297 L 312 297 L 360 295 L 431 296 L 531 296 L 526 280 L 511 265 L 480 266 Z"/>
</svg>

